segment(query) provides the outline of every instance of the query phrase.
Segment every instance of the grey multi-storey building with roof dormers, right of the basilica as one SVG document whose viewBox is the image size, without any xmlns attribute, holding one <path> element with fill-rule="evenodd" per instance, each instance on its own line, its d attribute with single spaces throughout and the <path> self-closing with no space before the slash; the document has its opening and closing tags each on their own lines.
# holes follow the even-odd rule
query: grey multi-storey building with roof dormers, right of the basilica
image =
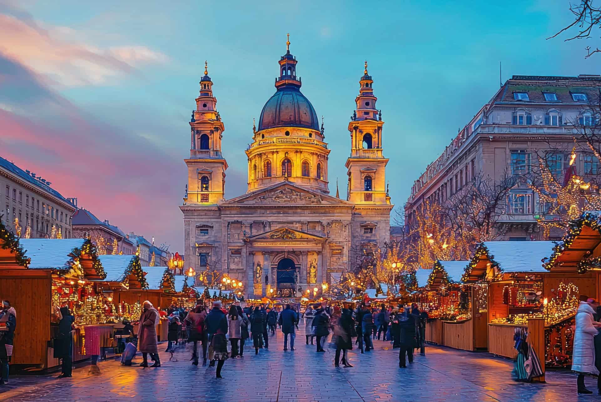
<svg viewBox="0 0 601 402">
<path fill-rule="evenodd" d="M 413 183 L 404 206 L 406 227 L 426 200 L 445 203 L 472 180 L 526 177 L 543 157 L 549 171 L 563 180 L 572 147 L 586 126 L 596 126 L 601 76 L 513 76 L 459 131 L 442 154 Z M 582 145 L 582 144 L 581 144 Z M 584 147 L 580 147 L 582 149 Z M 543 156 L 542 156 L 543 155 Z M 594 176 L 599 159 L 579 153 L 575 172 Z M 516 180 L 508 193 L 506 213 L 498 216 L 499 240 L 542 240 L 538 221 L 548 205 L 526 180 Z M 551 239 L 563 231 L 551 231 Z"/>
</svg>

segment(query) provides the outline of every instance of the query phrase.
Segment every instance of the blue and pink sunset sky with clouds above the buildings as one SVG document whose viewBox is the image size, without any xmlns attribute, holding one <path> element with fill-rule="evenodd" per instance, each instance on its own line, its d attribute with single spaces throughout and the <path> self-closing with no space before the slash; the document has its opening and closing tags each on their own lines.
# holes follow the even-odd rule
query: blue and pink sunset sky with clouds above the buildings
<svg viewBox="0 0 601 402">
<path fill-rule="evenodd" d="M 225 123 L 231 198 L 246 190 L 243 150 L 290 32 L 302 92 L 325 119 L 330 190 L 338 177 L 343 198 L 347 124 L 368 60 L 402 209 L 413 180 L 498 89 L 499 61 L 503 81 L 599 73 L 601 56 L 585 60 L 585 41 L 545 40 L 569 22 L 568 7 L 0 0 L 0 156 L 43 171 L 100 219 L 182 251 L 177 206 L 204 60 Z"/>
</svg>

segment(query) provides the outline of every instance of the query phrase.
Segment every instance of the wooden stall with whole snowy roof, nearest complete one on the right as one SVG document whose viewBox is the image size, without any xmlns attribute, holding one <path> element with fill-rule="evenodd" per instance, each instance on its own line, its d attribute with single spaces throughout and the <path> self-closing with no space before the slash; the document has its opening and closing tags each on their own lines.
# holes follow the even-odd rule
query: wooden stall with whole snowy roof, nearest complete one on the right
<svg viewBox="0 0 601 402">
<path fill-rule="evenodd" d="M 488 350 L 515 358 L 514 331 L 543 317 L 544 278 L 541 261 L 553 242 L 484 242 L 478 245 L 466 271 L 486 287 Z"/>
</svg>

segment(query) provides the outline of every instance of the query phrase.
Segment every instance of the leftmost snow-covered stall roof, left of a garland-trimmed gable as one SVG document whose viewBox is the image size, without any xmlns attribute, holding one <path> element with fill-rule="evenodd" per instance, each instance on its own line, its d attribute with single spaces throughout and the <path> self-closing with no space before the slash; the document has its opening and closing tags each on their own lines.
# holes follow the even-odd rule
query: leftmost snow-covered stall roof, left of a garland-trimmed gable
<svg viewBox="0 0 601 402">
<path fill-rule="evenodd" d="M 74 248 L 81 248 L 84 239 L 19 239 L 25 256 L 31 258 L 29 269 L 69 268 L 69 256 Z"/>
</svg>

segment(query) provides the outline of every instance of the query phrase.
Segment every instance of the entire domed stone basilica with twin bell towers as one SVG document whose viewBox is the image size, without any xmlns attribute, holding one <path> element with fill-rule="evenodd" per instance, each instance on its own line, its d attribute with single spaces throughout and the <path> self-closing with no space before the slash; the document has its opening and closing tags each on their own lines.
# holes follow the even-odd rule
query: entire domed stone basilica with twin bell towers
<svg viewBox="0 0 601 402">
<path fill-rule="evenodd" d="M 263 106 L 245 151 L 246 193 L 224 197 L 228 164 L 221 151 L 227 134 L 206 64 L 190 121 L 188 187 L 180 206 L 186 267 L 194 268 L 197 284 L 204 270 L 242 282 L 239 291 L 245 297 L 321 291 L 356 267 L 363 255 L 376 252 L 390 233 L 384 122 L 367 62 L 349 122 L 347 196 L 341 199 L 338 186 L 335 196 L 329 192 L 331 150 L 323 123 L 320 127 L 313 105 L 301 93 L 289 40 L 286 45 L 275 94 Z"/>
</svg>

